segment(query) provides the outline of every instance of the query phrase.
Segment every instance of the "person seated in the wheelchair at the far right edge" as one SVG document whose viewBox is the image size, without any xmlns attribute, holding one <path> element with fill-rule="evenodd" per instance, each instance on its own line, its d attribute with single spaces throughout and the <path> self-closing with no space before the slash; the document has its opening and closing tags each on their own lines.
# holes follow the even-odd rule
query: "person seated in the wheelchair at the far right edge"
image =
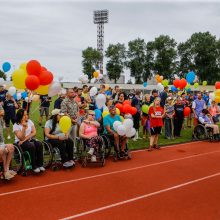
<svg viewBox="0 0 220 220">
<path fill-rule="evenodd" d="M 213 123 L 213 120 L 211 117 L 208 116 L 209 111 L 207 109 L 203 109 L 202 112 L 199 115 L 199 122 L 203 124 L 206 128 L 212 128 L 213 129 L 213 135 L 215 140 L 219 140 L 219 127 L 218 125 Z"/>
</svg>

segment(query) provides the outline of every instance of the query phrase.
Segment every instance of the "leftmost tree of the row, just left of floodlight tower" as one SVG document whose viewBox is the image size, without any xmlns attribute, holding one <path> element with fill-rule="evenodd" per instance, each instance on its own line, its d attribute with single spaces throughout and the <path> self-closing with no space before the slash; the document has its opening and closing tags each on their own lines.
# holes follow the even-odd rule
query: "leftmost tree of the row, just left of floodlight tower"
<svg viewBox="0 0 220 220">
<path fill-rule="evenodd" d="M 95 70 L 94 66 L 98 67 L 98 63 L 101 60 L 102 55 L 98 50 L 88 47 L 82 51 L 82 57 L 83 73 L 88 75 L 89 80 L 91 80 L 93 78 L 92 74 Z"/>
</svg>

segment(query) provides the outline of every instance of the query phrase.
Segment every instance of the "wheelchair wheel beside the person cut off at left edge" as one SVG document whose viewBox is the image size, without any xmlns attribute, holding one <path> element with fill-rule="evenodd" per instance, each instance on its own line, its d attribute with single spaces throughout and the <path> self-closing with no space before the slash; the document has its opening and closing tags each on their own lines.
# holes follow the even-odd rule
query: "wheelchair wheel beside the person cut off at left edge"
<svg viewBox="0 0 220 220">
<path fill-rule="evenodd" d="M 10 169 L 20 173 L 23 168 L 23 152 L 18 145 L 14 145 L 14 155 L 11 160 Z"/>
</svg>

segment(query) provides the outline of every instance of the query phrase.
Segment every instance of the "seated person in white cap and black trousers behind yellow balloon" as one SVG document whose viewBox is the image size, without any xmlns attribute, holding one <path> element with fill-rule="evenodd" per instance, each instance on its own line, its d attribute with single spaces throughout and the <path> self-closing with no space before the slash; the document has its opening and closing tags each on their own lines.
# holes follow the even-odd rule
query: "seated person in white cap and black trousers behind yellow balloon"
<svg viewBox="0 0 220 220">
<path fill-rule="evenodd" d="M 61 131 L 59 126 L 59 120 L 64 114 L 61 113 L 60 109 L 54 109 L 51 115 L 44 127 L 45 139 L 52 147 L 59 148 L 63 166 L 72 167 L 75 165 L 73 161 L 73 141 Z"/>
</svg>

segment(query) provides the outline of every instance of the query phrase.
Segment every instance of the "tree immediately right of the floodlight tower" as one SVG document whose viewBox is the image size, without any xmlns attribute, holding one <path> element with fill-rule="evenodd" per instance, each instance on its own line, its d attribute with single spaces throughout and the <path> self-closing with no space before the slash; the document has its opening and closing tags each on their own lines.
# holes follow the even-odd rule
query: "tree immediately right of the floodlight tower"
<svg viewBox="0 0 220 220">
<path fill-rule="evenodd" d="M 107 74 L 110 80 L 114 80 L 115 83 L 123 73 L 126 60 L 126 48 L 124 44 L 110 44 L 105 52 L 105 56 L 108 58 L 106 64 Z"/>
</svg>

